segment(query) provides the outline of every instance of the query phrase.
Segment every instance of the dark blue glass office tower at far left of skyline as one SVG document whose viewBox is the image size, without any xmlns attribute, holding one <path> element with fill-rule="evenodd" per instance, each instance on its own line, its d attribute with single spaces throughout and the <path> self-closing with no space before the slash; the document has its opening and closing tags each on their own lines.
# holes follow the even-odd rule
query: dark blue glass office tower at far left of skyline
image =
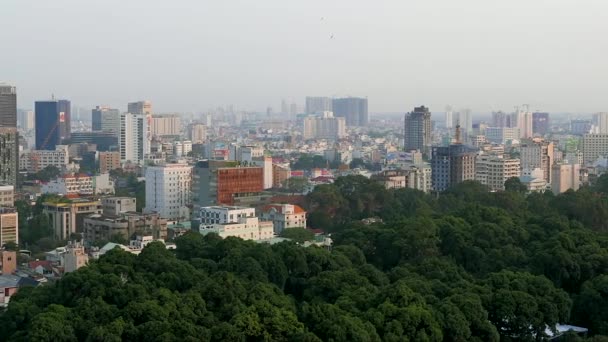
<svg viewBox="0 0 608 342">
<path fill-rule="evenodd" d="M 54 150 L 63 140 L 70 139 L 70 101 L 36 101 L 36 149 Z"/>
</svg>

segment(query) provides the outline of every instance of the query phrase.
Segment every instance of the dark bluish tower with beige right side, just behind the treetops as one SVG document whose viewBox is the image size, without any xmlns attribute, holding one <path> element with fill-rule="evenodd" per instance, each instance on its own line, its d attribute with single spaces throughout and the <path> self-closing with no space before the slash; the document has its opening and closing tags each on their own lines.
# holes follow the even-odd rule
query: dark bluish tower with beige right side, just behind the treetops
<svg viewBox="0 0 608 342">
<path fill-rule="evenodd" d="M 465 180 L 475 179 L 477 150 L 462 144 L 434 146 L 431 182 L 434 191 L 445 191 Z"/>
</svg>

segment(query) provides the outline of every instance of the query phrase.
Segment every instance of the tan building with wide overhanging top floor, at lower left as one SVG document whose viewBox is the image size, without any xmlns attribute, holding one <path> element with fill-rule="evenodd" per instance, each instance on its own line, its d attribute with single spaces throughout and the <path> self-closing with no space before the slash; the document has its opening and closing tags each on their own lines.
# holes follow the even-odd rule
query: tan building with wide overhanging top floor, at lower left
<svg viewBox="0 0 608 342">
<path fill-rule="evenodd" d="M 49 217 L 56 240 L 69 240 L 73 233 L 82 233 L 84 219 L 91 214 L 101 214 L 99 200 L 76 198 L 73 200 L 42 203 L 42 213 Z"/>
</svg>

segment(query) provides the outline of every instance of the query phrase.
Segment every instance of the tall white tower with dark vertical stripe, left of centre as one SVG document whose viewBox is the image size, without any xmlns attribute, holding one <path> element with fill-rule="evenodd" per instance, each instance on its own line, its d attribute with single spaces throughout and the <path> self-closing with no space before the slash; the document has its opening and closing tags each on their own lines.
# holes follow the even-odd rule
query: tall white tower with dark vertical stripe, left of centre
<svg viewBox="0 0 608 342">
<path fill-rule="evenodd" d="M 152 134 L 150 132 L 149 114 L 123 113 L 120 116 L 120 160 L 143 164 L 146 155 L 150 154 Z"/>
</svg>

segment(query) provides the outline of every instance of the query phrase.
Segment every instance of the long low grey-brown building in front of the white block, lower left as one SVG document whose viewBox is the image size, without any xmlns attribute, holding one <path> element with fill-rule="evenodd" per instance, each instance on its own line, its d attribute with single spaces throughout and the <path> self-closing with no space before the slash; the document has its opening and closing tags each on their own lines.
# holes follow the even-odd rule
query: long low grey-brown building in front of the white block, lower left
<svg viewBox="0 0 608 342">
<path fill-rule="evenodd" d="M 85 241 L 109 241 L 115 237 L 129 240 L 136 235 L 149 235 L 154 239 L 167 239 L 167 219 L 157 213 L 142 214 L 134 211 L 112 214 L 94 214 L 84 219 Z"/>
</svg>

